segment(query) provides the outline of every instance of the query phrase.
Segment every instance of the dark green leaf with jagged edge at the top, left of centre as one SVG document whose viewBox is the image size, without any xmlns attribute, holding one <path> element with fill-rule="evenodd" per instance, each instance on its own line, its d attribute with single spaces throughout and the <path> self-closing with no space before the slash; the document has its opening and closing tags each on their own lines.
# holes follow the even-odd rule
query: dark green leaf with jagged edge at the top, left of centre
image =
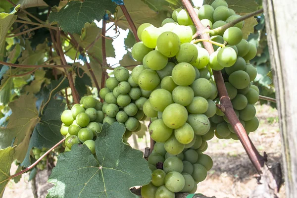
<svg viewBox="0 0 297 198">
<path fill-rule="evenodd" d="M 81 34 L 85 23 L 100 21 L 106 10 L 114 13 L 115 7 L 111 0 L 70 1 L 59 12 L 51 12 L 49 22 L 58 22 L 64 32 Z"/>
</svg>

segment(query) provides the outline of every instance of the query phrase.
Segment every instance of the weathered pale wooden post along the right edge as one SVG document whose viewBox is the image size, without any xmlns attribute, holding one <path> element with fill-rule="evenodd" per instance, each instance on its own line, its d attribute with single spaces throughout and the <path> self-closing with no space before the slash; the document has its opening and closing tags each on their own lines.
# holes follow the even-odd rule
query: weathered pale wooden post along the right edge
<svg viewBox="0 0 297 198">
<path fill-rule="evenodd" d="M 264 0 L 270 62 L 282 135 L 287 198 L 297 195 L 296 0 Z"/>
</svg>

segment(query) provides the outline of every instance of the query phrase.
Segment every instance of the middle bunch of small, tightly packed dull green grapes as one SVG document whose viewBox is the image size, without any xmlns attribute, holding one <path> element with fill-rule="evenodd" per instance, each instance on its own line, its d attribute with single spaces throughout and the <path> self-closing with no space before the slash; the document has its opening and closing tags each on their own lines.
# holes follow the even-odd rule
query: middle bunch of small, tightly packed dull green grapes
<svg viewBox="0 0 297 198">
<path fill-rule="evenodd" d="M 119 122 L 125 125 L 126 132 L 124 142 L 141 129 L 140 120 L 146 119 L 143 105 L 150 92 L 143 90 L 135 83 L 133 76 L 125 67 L 118 66 L 113 71 L 114 77 L 109 77 L 105 82 L 105 88 L 99 92 L 104 99 L 102 112 L 106 114 L 103 123 Z"/>
</svg>

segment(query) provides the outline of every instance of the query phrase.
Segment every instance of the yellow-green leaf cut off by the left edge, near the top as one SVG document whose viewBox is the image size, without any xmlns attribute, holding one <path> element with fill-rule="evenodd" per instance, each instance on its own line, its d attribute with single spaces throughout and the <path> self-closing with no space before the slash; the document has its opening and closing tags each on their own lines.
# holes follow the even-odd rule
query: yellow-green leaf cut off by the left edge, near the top
<svg viewBox="0 0 297 198">
<path fill-rule="evenodd" d="M 0 59 L 2 59 L 4 56 L 3 50 L 5 45 L 5 37 L 9 28 L 17 18 L 17 15 L 15 15 L 15 13 L 18 8 L 19 5 L 17 5 L 9 14 L 5 12 L 0 13 Z"/>
</svg>

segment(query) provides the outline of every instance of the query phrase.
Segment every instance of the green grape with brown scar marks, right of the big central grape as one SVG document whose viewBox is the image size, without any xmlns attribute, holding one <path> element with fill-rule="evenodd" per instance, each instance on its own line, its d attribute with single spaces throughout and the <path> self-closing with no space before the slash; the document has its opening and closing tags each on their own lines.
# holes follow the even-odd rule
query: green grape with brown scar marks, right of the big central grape
<svg viewBox="0 0 297 198">
<path fill-rule="evenodd" d="M 190 114 L 187 121 L 196 135 L 204 135 L 210 129 L 210 122 L 206 115 L 204 114 Z"/>
</svg>

